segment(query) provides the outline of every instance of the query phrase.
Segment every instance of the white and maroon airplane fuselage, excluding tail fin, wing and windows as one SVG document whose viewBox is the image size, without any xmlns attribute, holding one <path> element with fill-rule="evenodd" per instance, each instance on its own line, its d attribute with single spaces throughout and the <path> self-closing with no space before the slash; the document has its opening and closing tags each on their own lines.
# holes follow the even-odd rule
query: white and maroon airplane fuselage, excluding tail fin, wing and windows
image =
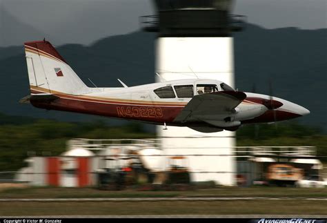
<svg viewBox="0 0 327 223">
<path fill-rule="evenodd" d="M 216 115 L 210 114 L 202 117 L 200 115 L 199 119 L 194 119 L 191 122 L 174 122 L 177 115 L 192 99 L 192 97 L 179 98 L 175 86 L 192 86 L 194 89 L 193 94 L 197 95 L 195 89 L 199 83 L 219 86 L 222 82 L 214 79 L 186 79 L 128 88 L 90 88 L 91 92 L 83 95 L 66 95 L 52 91 L 59 99 L 51 102 L 31 102 L 39 108 L 67 110 L 152 124 L 166 124 L 168 126 L 210 126 L 226 130 L 234 130 L 234 127 L 237 128 L 241 124 L 277 122 L 310 113 L 306 108 L 284 99 L 270 97 L 269 95 L 245 93 L 246 98 L 241 101 L 235 110 L 229 113 L 230 116 L 226 115 L 226 117 L 230 117 L 227 121 L 216 120 Z M 155 94 L 154 90 L 165 86 L 172 86 L 175 97 L 160 98 Z M 31 90 L 34 94 L 49 93 L 48 90 L 35 86 L 31 86 Z M 223 90 L 219 88 L 219 91 Z M 264 101 L 271 99 L 282 104 L 275 111 L 264 105 Z M 215 104 L 215 101 L 212 101 L 212 103 Z M 215 106 L 221 106 L 219 101 Z M 202 122 L 202 119 L 211 122 Z"/>
</svg>

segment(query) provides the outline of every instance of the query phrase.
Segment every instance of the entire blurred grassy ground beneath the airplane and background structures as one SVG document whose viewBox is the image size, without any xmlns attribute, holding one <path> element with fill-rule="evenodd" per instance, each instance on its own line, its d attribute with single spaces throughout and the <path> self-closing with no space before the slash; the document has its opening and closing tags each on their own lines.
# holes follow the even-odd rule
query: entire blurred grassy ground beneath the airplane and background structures
<svg viewBox="0 0 327 223">
<path fill-rule="evenodd" d="M 46 198 L 239 197 L 239 200 L 13 201 Z M 260 197 L 260 199 L 248 199 Z M 308 200 L 307 198 L 310 198 Z M 1 201 L 2 200 L 2 201 Z M 2 188 L 0 215 L 327 215 L 327 188 L 219 187 L 192 191 Z"/>
</svg>

